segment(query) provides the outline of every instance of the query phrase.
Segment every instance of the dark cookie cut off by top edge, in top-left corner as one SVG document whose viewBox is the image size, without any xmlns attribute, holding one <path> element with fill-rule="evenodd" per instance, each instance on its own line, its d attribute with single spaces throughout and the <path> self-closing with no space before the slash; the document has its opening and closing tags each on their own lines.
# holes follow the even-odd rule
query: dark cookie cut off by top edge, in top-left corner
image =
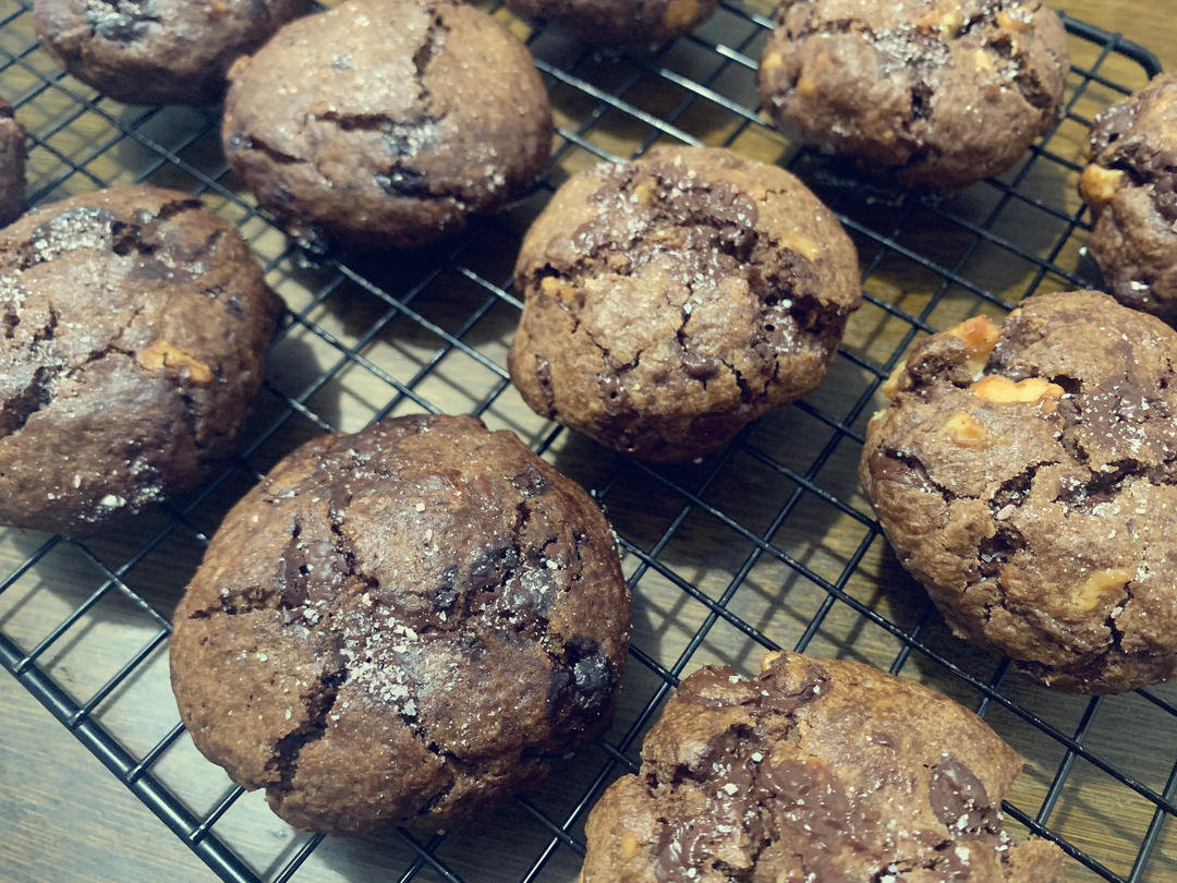
<svg viewBox="0 0 1177 883">
<path fill-rule="evenodd" d="M 69 73 L 132 105 L 210 105 L 225 72 L 308 0 L 34 0 L 41 42 Z"/>
</svg>

